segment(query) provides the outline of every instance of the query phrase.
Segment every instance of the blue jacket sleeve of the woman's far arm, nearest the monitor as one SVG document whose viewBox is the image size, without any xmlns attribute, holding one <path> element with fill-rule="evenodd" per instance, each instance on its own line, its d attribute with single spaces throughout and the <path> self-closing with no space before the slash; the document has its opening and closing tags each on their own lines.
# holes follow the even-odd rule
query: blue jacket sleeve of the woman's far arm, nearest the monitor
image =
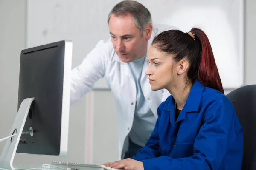
<svg viewBox="0 0 256 170">
<path fill-rule="evenodd" d="M 134 156 L 132 159 L 137 161 L 143 161 L 145 159 L 152 159 L 160 156 L 159 153 L 159 134 L 158 134 L 158 125 L 159 125 L 159 119 L 163 110 L 165 102 L 162 102 L 159 107 L 157 108 L 157 122 L 155 124 L 154 130 L 151 133 L 151 136 L 149 137 L 148 141 L 145 144 L 145 147 L 140 149 L 136 156 Z"/>
</svg>

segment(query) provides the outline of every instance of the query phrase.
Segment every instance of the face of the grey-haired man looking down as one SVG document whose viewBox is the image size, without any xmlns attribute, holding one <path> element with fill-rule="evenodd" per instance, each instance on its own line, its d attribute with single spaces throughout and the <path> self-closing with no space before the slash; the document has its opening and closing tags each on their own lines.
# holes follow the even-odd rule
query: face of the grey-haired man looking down
<svg viewBox="0 0 256 170">
<path fill-rule="evenodd" d="M 146 29 L 147 30 L 147 29 Z M 143 57 L 147 51 L 151 30 L 142 32 L 134 23 L 131 14 L 116 16 L 112 14 L 109 20 L 109 32 L 113 48 L 122 62 L 132 62 Z"/>
</svg>

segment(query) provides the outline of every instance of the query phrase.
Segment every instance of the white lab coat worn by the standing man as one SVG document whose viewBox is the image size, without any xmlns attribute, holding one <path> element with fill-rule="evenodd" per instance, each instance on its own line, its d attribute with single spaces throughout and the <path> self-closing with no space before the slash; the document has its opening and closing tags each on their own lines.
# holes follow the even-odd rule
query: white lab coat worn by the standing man
<svg viewBox="0 0 256 170">
<path fill-rule="evenodd" d="M 166 25 L 153 25 L 151 39 L 162 31 L 177 29 Z M 167 90 L 152 91 L 145 71 L 148 68 L 147 56 L 141 74 L 141 88 L 148 106 L 157 118 L 157 108 L 161 102 L 170 95 Z M 87 54 L 81 65 L 72 71 L 70 104 L 77 102 L 84 94 L 89 92 L 94 83 L 105 77 L 108 86 L 113 92 L 116 107 L 119 139 L 119 159 L 122 150 L 128 149 L 128 140 L 125 140 L 131 130 L 136 104 L 136 84 L 127 63 L 122 62 L 116 55 L 111 38 L 101 40 L 95 48 Z M 143 128 L 143 127 L 142 127 Z"/>
</svg>

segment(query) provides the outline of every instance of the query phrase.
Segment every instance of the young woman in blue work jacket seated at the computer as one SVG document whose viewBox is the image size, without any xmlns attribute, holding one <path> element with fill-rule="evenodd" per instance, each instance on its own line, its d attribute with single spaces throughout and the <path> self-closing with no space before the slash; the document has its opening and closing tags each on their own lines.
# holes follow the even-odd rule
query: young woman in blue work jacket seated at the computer
<svg viewBox="0 0 256 170">
<path fill-rule="evenodd" d="M 158 108 L 148 142 L 135 157 L 105 165 L 127 170 L 241 170 L 243 130 L 224 95 L 206 34 L 169 30 L 148 52 L 151 89 L 172 95 Z M 227 63 L 228 64 L 228 63 Z"/>
</svg>

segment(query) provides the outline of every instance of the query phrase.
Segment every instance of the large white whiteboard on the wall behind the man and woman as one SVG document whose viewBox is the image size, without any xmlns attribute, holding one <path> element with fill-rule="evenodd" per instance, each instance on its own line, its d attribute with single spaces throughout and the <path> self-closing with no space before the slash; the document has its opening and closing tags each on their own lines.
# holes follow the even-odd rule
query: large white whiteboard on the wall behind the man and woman
<svg viewBox="0 0 256 170">
<path fill-rule="evenodd" d="M 96 43 L 109 37 L 107 17 L 120 0 L 28 0 L 26 47 L 64 39 L 73 41 L 72 67 L 79 65 Z M 193 26 L 207 34 L 224 89 L 243 85 L 243 0 L 138 0 L 153 23 L 187 32 Z M 108 89 L 105 79 L 94 88 Z"/>
</svg>

